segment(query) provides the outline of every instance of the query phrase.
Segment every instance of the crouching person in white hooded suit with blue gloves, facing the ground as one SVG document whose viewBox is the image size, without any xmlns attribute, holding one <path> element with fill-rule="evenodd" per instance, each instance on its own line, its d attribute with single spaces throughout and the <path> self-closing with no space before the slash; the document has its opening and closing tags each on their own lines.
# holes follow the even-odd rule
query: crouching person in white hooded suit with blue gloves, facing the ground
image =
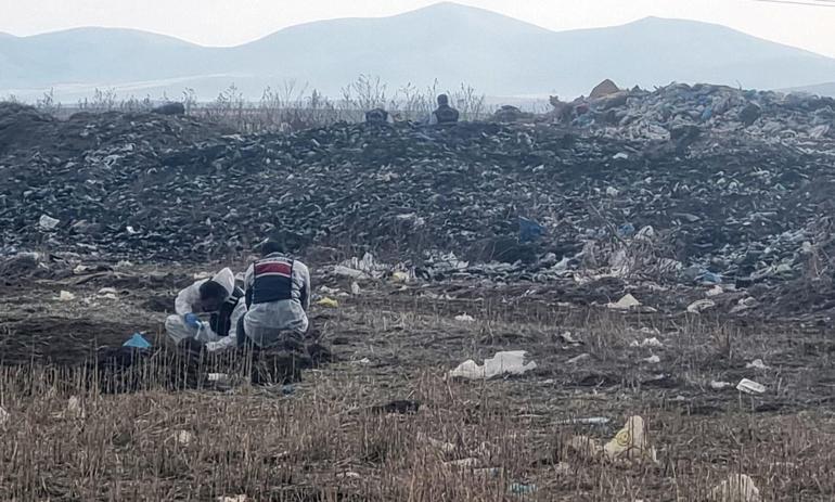
<svg viewBox="0 0 835 502">
<path fill-rule="evenodd" d="M 165 321 L 165 331 L 175 344 L 195 339 L 209 351 L 237 345 L 237 322 L 246 312 L 244 292 L 235 286 L 229 268 L 210 280 L 196 281 L 177 295 L 177 314 Z M 205 320 L 203 319 L 205 318 Z"/>
</svg>

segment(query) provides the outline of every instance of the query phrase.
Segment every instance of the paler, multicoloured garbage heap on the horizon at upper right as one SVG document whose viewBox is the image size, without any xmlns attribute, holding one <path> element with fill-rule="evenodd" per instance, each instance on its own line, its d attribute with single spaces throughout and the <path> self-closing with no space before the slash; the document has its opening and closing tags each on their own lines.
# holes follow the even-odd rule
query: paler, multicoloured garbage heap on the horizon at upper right
<svg viewBox="0 0 835 502">
<path fill-rule="evenodd" d="M 625 139 L 756 138 L 798 144 L 828 140 L 835 146 L 835 99 L 725 86 L 672 83 L 655 91 L 620 90 L 606 80 L 590 98 L 552 99 L 552 117 Z M 709 144 L 705 144 L 709 147 Z"/>
</svg>

